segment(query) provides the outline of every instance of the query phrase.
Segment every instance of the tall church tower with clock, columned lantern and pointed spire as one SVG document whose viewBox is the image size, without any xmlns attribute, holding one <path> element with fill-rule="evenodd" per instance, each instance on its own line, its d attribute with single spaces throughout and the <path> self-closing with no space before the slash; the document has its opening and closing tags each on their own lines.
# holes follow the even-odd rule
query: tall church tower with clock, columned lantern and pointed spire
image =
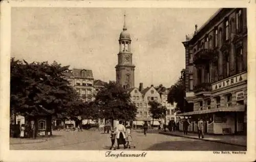
<svg viewBox="0 0 256 162">
<path fill-rule="evenodd" d="M 124 14 L 124 25 L 123 31 L 119 37 L 119 53 L 118 63 L 116 65 L 116 82 L 120 84 L 124 89 L 134 87 L 134 70 L 135 65 L 133 64 L 133 54 L 131 53 L 131 36 L 127 32 L 125 24 Z"/>
</svg>

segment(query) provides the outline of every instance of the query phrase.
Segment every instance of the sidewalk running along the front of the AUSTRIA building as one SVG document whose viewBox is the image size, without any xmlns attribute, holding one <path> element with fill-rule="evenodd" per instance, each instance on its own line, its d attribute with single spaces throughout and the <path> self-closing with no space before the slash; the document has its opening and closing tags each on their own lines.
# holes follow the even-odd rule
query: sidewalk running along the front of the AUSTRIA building
<svg viewBox="0 0 256 162">
<path fill-rule="evenodd" d="M 198 138 L 198 134 L 197 133 L 187 133 L 187 135 L 185 135 L 182 131 L 168 131 L 166 130 L 166 132 L 164 131 L 160 131 L 159 133 L 161 134 L 167 134 L 167 135 L 174 135 L 174 136 L 182 136 L 182 137 L 186 137 L 186 138 L 193 138 L 193 139 L 197 139 Z M 237 146 L 243 146 L 246 147 L 247 146 L 247 136 L 246 135 L 208 135 L 205 134 L 204 138 L 200 138 L 200 140 L 204 140 L 204 141 L 212 141 L 212 142 L 218 142 L 218 143 L 223 143 L 223 144 L 230 144 L 230 145 L 237 145 Z"/>
</svg>

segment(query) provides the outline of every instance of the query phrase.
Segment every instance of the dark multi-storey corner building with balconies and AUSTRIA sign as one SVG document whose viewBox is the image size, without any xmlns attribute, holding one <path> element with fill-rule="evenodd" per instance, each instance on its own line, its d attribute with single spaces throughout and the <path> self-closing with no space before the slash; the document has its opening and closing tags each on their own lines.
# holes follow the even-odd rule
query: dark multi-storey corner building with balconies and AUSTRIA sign
<svg viewBox="0 0 256 162">
<path fill-rule="evenodd" d="M 205 133 L 246 132 L 247 13 L 219 9 L 182 42 L 186 56 L 186 100 L 194 111 L 180 114 L 205 121 Z"/>
</svg>

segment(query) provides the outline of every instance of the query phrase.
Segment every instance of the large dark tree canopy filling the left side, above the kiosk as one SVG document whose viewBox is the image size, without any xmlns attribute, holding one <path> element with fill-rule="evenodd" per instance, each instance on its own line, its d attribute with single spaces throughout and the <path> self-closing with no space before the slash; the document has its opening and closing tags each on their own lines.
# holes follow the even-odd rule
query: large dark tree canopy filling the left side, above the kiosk
<svg viewBox="0 0 256 162">
<path fill-rule="evenodd" d="M 28 63 L 11 58 L 11 113 L 76 118 L 83 105 L 73 87 L 63 78 L 62 74 L 68 68 L 57 62 Z"/>
</svg>

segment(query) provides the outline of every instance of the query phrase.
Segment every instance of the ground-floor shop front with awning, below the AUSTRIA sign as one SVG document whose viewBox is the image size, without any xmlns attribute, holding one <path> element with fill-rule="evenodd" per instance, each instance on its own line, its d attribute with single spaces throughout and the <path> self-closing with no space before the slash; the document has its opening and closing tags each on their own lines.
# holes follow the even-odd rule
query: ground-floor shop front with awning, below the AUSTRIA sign
<svg viewBox="0 0 256 162">
<path fill-rule="evenodd" d="M 216 108 L 210 110 L 192 111 L 179 114 L 188 117 L 188 131 L 197 132 L 197 119 L 203 119 L 204 133 L 207 134 L 238 134 L 244 131 L 245 105 Z M 183 122 L 179 123 L 183 130 Z"/>
</svg>

